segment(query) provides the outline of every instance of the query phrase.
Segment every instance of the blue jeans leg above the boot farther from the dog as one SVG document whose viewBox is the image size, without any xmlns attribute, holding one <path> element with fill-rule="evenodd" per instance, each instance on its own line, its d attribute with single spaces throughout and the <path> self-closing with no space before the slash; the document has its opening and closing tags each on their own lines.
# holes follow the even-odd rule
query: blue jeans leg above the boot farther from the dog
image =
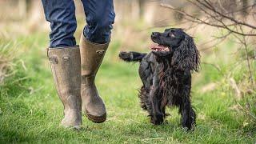
<svg viewBox="0 0 256 144">
<path fill-rule="evenodd" d="M 50 48 L 75 46 L 77 28 L 73 0 L 42 0 L 46 20 L 50 22 Z"/>
</svg>

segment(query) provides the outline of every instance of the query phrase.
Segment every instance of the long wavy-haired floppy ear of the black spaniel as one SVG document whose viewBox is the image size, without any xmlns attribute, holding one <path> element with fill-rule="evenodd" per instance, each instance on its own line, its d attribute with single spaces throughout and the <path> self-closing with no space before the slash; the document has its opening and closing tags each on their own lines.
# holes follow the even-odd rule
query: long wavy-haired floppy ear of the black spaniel
<svg viewBox="0 0 256 144">
<path fill-rule="evenodd" d="M 180 46 L 174 50 L 172 64 L 177 70 L 195 70 L 200 68 L 200 54 L 193 38 L 186 34 Z"/>
</svg>

